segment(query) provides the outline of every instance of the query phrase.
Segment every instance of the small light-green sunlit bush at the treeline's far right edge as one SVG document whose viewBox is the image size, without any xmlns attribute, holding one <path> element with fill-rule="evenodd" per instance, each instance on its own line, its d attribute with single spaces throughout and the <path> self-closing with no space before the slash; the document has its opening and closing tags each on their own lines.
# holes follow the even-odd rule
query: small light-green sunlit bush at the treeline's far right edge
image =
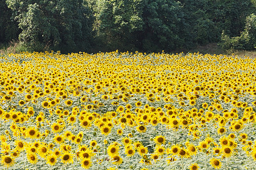
<svg viewBox="0 0 256 170">
<path fill-rule="evenodd" d="M 220 45 L 224 49 L 255 50 L 256 49 L 256 15 L 251 14 L 246 18 L 245 30 L 241 36 L 230 38 L 222 32 Z"/>
</svg>

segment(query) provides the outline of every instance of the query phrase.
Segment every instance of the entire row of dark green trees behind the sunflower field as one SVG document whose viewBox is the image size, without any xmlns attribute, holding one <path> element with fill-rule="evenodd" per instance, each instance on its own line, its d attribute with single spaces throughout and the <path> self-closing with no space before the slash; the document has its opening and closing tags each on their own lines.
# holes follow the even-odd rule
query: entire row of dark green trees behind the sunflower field
<svg viewBox="0 0 256 170">
<path fill-rule="evenodd" d="M 0 0 L 0 43 L 32 50 L 255 49 L 255 0 Z"/>
</svg>

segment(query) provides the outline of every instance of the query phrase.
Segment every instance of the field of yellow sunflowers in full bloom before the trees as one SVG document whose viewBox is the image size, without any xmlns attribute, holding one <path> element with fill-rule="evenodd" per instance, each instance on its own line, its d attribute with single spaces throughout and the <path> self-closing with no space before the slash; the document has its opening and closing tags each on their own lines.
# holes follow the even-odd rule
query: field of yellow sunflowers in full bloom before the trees
<svg viewBox="0 0 256 170">
<path fill-rule="evenodd" d="M 0 56 L 0 169 L 255 169 L 256 59 Z"/>
</svg>

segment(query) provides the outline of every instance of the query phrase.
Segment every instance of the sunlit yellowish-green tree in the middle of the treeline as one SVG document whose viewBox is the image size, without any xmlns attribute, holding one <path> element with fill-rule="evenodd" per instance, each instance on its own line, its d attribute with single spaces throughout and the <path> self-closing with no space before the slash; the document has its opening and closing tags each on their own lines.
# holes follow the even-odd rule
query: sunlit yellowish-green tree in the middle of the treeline
<svg viewBox="0 0 256 170">
<path fill-rule="evenodd" d="M 142 1 L 98 1 L 97 39 L 106 50 L 136 49 L 138 32 L 143 30 Z"/>
</svg>

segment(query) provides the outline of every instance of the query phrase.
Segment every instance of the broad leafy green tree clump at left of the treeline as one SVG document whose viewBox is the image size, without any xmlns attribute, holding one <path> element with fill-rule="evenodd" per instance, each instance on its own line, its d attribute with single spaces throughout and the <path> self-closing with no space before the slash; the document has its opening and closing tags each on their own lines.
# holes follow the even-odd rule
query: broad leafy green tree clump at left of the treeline
<svg viewBox="0 0 256 170">
<path fill-rule="evenodd" d="M 15 1 L 7 5 L 22 32 L 19 39 L 42 49 L 75 50 L 80 44 L 89 48 L 90 13 L 82 0 L 76 1 Z"/>
</svg>

